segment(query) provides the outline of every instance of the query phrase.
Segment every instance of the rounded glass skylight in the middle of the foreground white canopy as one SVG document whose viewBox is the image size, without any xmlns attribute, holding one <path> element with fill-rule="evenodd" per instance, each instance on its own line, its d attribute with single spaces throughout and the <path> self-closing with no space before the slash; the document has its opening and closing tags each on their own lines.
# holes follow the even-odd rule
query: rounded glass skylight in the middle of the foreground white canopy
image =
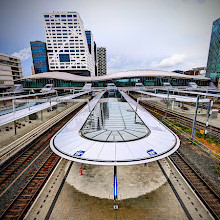
<svg viewBox="0 0 220 220">
<path fill-rule="evenodd" d="M 104 93 L 80 130 L 85 138 L 104 142 L 133 141 L 149 129 L 117 90 Z"/>
</svg>

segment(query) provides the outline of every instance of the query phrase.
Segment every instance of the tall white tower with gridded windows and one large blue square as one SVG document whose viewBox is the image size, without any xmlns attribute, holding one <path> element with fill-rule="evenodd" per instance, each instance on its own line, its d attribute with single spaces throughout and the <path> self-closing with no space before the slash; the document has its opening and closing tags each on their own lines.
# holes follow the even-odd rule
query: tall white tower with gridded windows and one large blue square
<svg viewBox="0 0 220 220">
<path fill-rule="evenodd" d="M 49 70 L 95 76 L 93 36 L 90 34 L 89 49 L 79 14 L 77 12 L 45 13 L 44 23 Z"/>
</svg>

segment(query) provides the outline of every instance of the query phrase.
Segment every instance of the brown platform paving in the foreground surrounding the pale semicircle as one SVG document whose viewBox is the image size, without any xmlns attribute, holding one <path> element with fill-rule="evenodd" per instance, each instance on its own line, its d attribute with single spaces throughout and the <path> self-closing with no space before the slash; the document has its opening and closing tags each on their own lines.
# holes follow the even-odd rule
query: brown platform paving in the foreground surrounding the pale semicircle
<svg viewBox="0 0 220 220">
<path fill-rule="evenodd" d="M 66 182 L 60 187 L 67 172 L 65 167 L 69 166 L 69 163 L 65 159 L 61 160 L 25 219 L 115 219 L 112 200 L 81 193 Z M 145 166 L 142 166 L 145 169 Z M 161 166 L 163 171 L 169 170 L 170 184 L 166 182 L 153 192 L 118 201 L 117 219 L 212 219 L 171 162 L 163 159 L 158 166 Z M 129 172 L 127 174 L 129 175 Z M 165 172 L 165 175 L 169 174 Z M 80 171 L 75 178 L 80 178 Z M 141 179 L 133 181 L 137 186 L 143 183 Z M 113 177 L 109 185 L 112 184 Z"/>
</svg>

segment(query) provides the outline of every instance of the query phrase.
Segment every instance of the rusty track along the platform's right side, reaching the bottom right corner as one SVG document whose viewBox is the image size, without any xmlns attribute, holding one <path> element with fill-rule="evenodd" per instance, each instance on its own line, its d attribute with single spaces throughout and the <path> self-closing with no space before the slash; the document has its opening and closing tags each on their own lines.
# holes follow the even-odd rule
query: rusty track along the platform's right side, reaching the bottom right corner
<svg viewBox="0 0 220 220">
<path fill-rule="evenodd" d="M 176 151 L 169 158 L 215 219 L 220 219 L 220 198 L 199 173 Z"/>
</svg>

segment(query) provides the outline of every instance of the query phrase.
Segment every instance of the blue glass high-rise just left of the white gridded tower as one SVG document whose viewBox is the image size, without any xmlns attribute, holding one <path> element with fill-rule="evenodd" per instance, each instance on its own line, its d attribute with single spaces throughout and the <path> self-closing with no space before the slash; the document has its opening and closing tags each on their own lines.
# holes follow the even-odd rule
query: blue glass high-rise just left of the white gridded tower
<svg viewBox="0 0 220 220">
<path fill-rule="evenodd" d="M 31 41 L 30 44 L 35 74 L 48 72 L 46 43 Z"/>
</svg>

